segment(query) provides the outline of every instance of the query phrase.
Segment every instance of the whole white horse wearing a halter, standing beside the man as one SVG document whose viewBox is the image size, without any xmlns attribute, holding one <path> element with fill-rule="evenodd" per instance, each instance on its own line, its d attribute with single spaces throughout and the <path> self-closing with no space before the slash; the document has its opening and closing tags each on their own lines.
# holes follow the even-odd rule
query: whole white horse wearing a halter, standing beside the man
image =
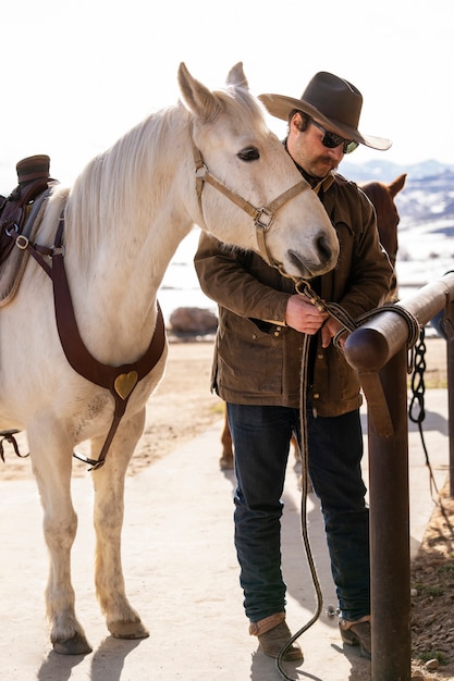
<svg viewBox="0 0 454 681">
<path fill-rule="evenodd" d="M 28 259 L 17 294 L 0 314 L 0 429 L 27 432 L 49 552 L 50 639 L 62 654 L 91 649 L 71 582 L 77 527 L 72 456 L 78 443 L 90 441 L 90 456 L 98 460 L 118 401 L 124 416 L 106 465 L 93 471 L 96 592 L 113 636 L 148 635 L 126 598 L 122 574 L 124 478 L 143 433 L 147 398 L 164 370 L 165 343 L 146 375 L 137 374 L 134 362 L 160 325 L 157 292 L 179 243 L 198 224 L 220 240 L 261 252 L 296 277 L 323 274 L 339 255 L 324 209 L 267 128 L 242 64 L 229 73 L 225 90 L 209 90 L 184 64 L 179 84 L 182 101 L 150 115 L 95 158 L 70 190 L 52 189 L 35 237 L 49 247 L 45 259 L 52 270 L 64 255 L 87 351 L 95 362 L 122 368 L 114 389 L 69 363 L 51 278 L 35 260 Z M 52 246 L 61 214 L 64 250 Z"/>
</svg>

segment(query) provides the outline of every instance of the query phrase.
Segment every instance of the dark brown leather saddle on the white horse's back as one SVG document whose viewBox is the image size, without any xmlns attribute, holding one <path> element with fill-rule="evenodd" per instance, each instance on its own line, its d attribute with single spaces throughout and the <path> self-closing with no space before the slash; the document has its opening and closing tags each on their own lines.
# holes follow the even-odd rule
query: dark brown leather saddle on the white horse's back
<svg viewBox="0 0 454 681">
<path fill-rule="evenodd" d="M 0 307 L 14 297 L 28 258 L 26 244 L 39 226 L 50 189 L 48 156 L 33 156 L 16 165 L 17 186 L 0 200 Z M 17 246 L 17 248 L 14 248 Z"/>
</svg>

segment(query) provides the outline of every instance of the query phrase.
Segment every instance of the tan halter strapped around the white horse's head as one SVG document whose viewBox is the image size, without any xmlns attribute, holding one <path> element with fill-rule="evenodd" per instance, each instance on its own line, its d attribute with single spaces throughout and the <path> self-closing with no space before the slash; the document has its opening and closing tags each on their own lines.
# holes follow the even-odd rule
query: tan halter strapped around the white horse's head
<svg viewBox="0 0 454 681">
<path fill-rule="evenodd" d="M 196 173 L 196 191 L 201 216 L 204 216 L 201 193 L 204 189 L 204 184 L 208 182 L 208 184 L 214 187 L 214 189 L 218 189 L 218 191 L 223 194 L 228 199 L 233 201 L 233 203 L 242 208 L 254 219 L 254 224 L 256 225 L 258 250 L 260 256 L 269 265 L 282 269 L 282 263 L 273 260 L 268 252 L 266 235 L 271 227 L 277 211 L 282 206 L 284 206 L 284 203 L 290 201 L 290 199 L 293 199 L 295 196 L 297 196 L 300 191 L 304 191 L 305 189 L 310 189 L 309 184 L 306 181 L 302 179 L 300 182 L 296 183 L 296 185 L 293 185 L 293 187 L 290 187 L 290 189 L 283 191 L 268 206 L 263 206 L 262 208 L 255 208 L 251 203 L 249 203 L 249 201 L 246 201 L 246 199 L 236 194 L 236 191 L 229 189 L 229 187 L 226 187 L 222 182 L 211 175 L 206 163 L 204 162 L 201 151 L 194 144 L 193 136 L 191 136 L 191 141 L 193 144 Z"/>
</svg>

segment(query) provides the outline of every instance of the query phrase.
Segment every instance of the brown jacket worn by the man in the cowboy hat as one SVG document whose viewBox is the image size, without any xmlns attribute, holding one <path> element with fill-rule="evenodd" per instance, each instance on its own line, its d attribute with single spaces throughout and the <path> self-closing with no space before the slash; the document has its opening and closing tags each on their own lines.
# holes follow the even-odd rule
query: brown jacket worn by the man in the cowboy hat
<svg viewBox="0 0 454 681">
<path fill-rule="evenodd" d="M 392 268 L 379 244 L 372 205 L 354 183 L 333 173 L 323 182 L 322 202 L 341 251 L 335 269 L 320 277 L 320 295 L 357 319 L 384 300 Z M 212 389 L 235 404 L 299 408 L 304 334 L 284 324 L 295 293 L 292 280 L 256 253 L 205 233 L 195 268 L 201 289 L 219 306 Z M 361 404 L 355 371 L 332 343 L 323 349 L 320 338 L 310 393 L 321 416 L 346 413 Z"/>
</svg>

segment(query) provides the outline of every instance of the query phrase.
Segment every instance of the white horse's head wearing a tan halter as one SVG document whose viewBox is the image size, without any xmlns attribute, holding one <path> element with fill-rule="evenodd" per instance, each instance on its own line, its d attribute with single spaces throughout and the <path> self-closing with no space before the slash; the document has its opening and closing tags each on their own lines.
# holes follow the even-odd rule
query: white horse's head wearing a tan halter
<svg viewBox="0 0 454 681">
<path fill-rule="evenodd" d="M 192 114 L 199 201 L 194 222 L 217 238 L 259 252 L 294 277 L 310 278 L 338 260 L 335 231 L 282 143 L 265 123 L 242 64 L 213 92 L 180 65 Z"/>
</svg>

